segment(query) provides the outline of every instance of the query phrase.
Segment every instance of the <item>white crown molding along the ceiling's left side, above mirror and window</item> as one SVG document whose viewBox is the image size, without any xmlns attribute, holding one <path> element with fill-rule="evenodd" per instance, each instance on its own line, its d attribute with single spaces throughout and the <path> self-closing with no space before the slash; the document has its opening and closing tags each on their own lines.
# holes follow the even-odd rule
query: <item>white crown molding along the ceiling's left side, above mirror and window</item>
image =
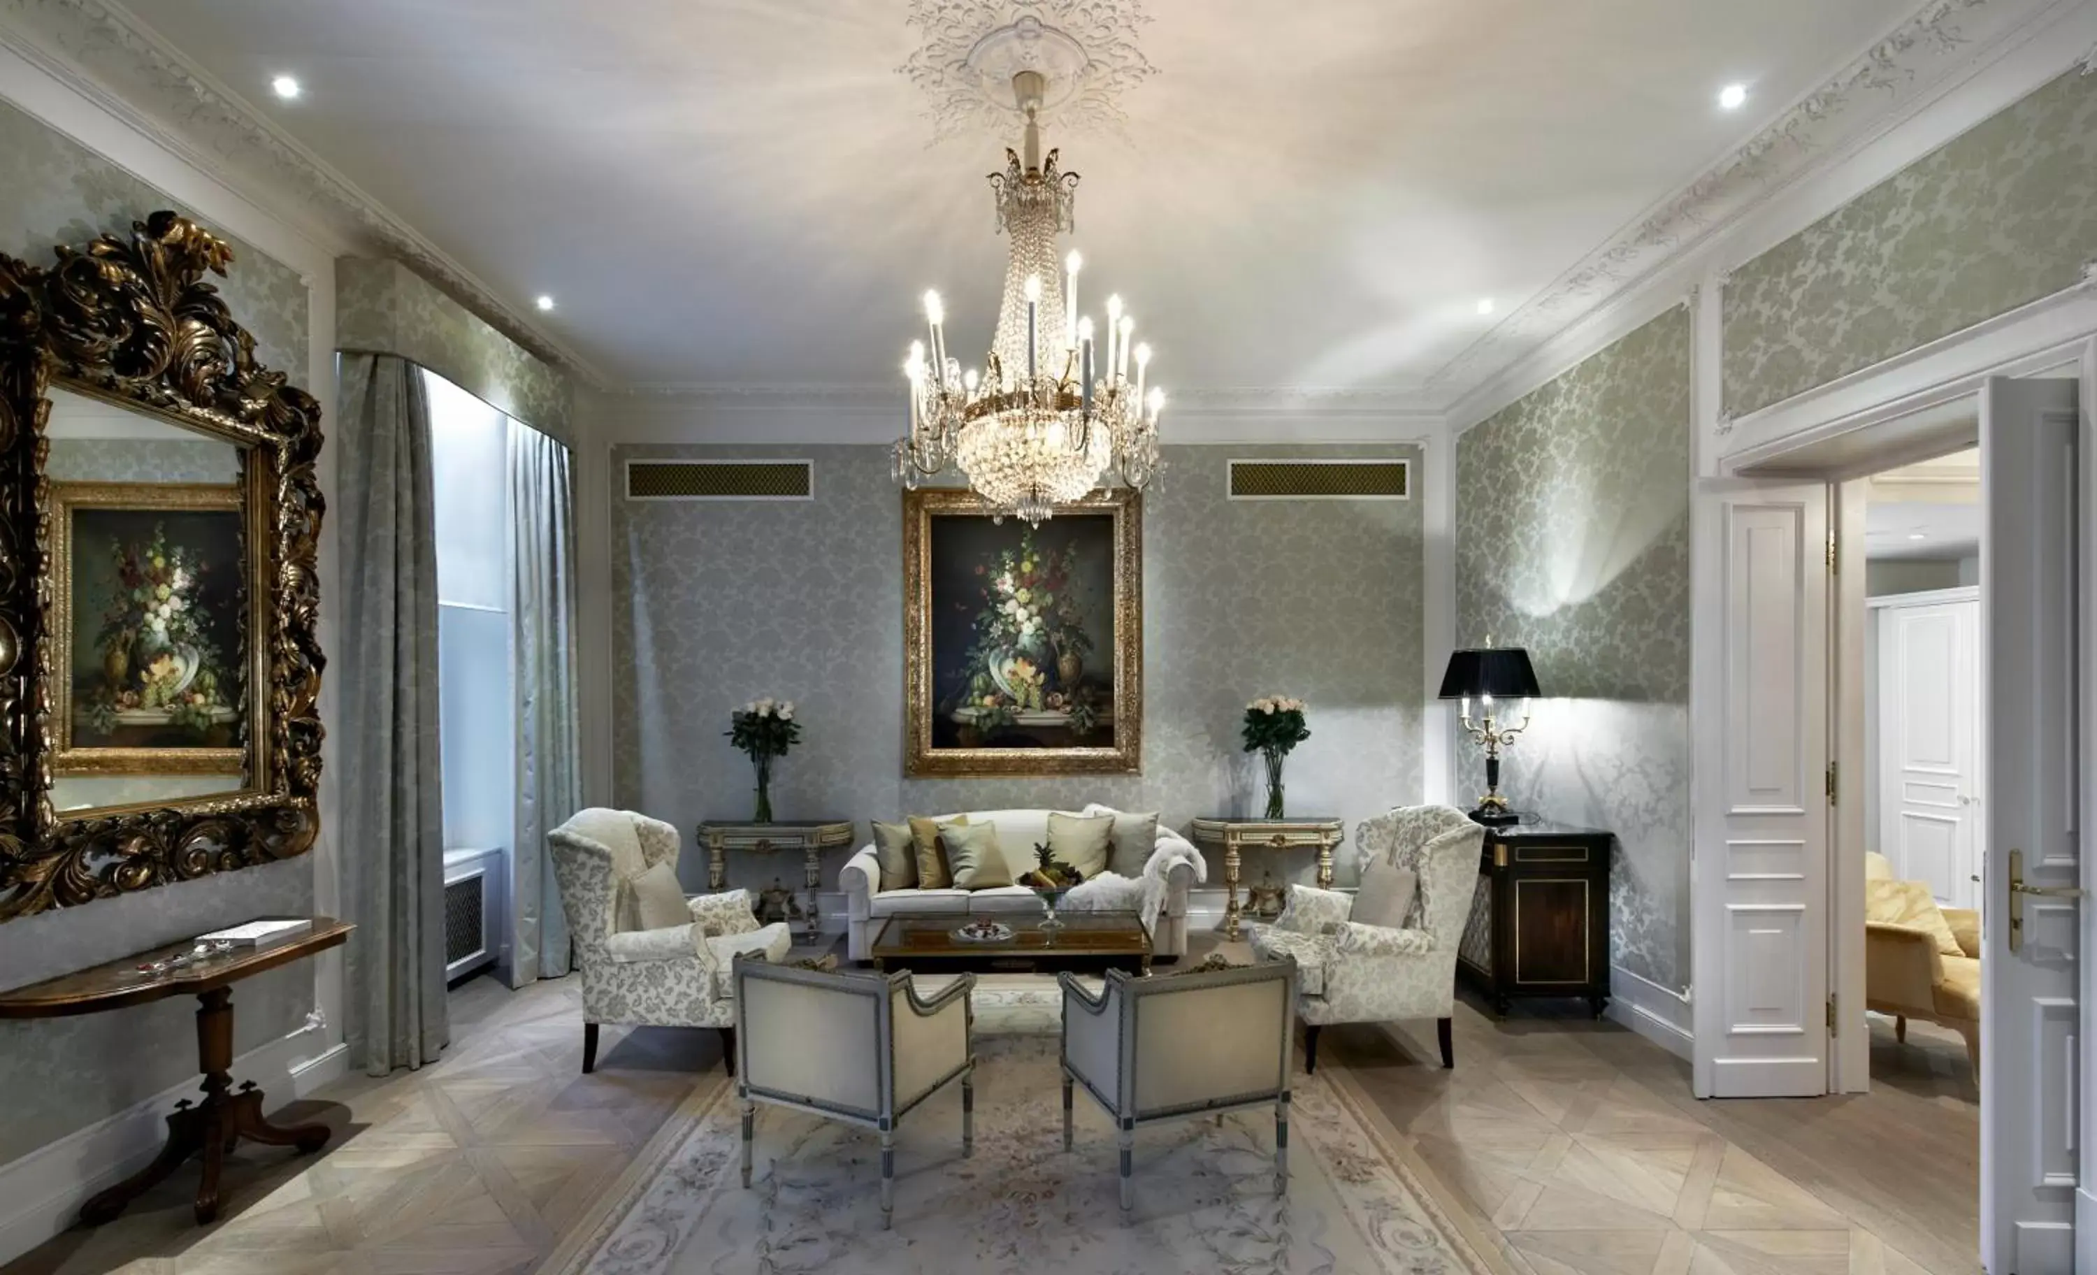
<svg viewBox="0 0 2097 1275">
<path fill-rule="evenodd" d="M 13 29 L 15 38 L 8 38 Z M 0 0 L 0 38 L 235 191 L 262 187 L 291 220 L 407 262 L 533 356 L 608 384 L 396 212 L 331 168 L 115 0 Z"/>
</svg>

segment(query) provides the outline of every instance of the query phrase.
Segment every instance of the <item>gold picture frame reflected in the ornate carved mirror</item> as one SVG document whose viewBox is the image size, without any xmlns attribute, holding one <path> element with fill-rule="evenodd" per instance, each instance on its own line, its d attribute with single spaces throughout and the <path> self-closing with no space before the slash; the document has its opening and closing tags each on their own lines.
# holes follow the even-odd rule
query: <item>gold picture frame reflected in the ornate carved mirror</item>
<svg viewBox="0 0 2097 1275">
<path fill-rule="evenodd" d="M 241 596 L 235 617 L 241 633 L 268 631 L 268 596 L 254 587 L 254 572 L 247 570 L 252 545 L 264 543 L 268 524 L 264 507 L 268 493 L 254 491 L 256 470 L 245 470 L 241 482 L 52 482 L 52 545 L 50 545 L 50 646 L 59 661 L 52 673 L 52 717 L 57 719 L 57 749 L 50 755 L 52 774 L 243 774 L 247 770 L 245 740 L 233 747 L 124 747 L 88 744 L 78 738 L 75 686 L 69 675 L 71 652 L 78 640 L 78 577 L 75 560 L 80 512 L 170 512 L 170 514 L 233 514 L 237 526 Z M 260 703 L 250 694 L 268 682 L 268 652 L 256 642 L 245 642 L 239 661 L 239 696 L 224 709 L 235 736 L 268 736 L 268 700 Z M 245 721 L 245 723 L 243 723 Z"/>
</svg>

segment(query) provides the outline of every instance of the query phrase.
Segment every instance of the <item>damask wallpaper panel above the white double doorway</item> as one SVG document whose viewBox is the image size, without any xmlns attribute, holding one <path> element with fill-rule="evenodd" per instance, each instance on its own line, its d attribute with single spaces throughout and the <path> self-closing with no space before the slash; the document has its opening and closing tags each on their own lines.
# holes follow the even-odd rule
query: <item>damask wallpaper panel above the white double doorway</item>
<svg viewBox="0 0 2097 1275">
<path fill-rule="evenodd" d="M 1726 279 L 1745 415 L 2072 287 L 2097 260 L 2097 75 L 2068 71 Z"/>
</svg>

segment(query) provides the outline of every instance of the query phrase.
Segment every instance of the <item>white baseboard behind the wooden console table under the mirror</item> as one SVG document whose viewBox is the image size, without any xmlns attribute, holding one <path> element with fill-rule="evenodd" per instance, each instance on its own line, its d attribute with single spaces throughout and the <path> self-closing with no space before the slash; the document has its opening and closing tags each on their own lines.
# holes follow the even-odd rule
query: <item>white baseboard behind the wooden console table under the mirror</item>
<svg viewBox="0 0 2097 1275">
<path fill-rule="evenodd" d="M 348 1046 L 302 1057 L 312 1044 L 308 1030 L 298 1030 L 243 1053 L 233 1059 L 235 1086 L 254 1080 L 275 1111 L 348 1072 Z M 0 1265 L 71 1227 L 82 1200 L 145 1168 L 168 1137 L 168 1111 L 195 1095 L 197 1078 L 182 1080 L 0 1164 Z"/>
</svg>

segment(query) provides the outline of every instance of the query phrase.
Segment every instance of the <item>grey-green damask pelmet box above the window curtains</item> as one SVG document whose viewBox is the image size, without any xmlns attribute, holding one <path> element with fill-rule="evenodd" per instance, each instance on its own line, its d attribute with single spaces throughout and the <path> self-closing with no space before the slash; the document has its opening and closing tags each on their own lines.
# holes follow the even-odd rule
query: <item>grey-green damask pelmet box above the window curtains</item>
<svg viewBox="0 0 2097 1275">
<path fill-rule="evenodd" d="M 401 354 L 575 447 L 568 375 L 401 262 L 354 256 L 336 262 L 336 348 Z"/>
</svg>

